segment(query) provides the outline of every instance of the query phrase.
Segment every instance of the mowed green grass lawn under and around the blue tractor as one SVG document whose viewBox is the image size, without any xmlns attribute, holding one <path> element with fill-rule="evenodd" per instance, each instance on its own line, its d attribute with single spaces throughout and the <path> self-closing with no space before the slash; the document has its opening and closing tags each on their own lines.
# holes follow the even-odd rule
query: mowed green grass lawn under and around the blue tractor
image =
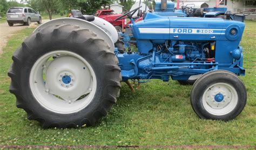
<svg viewBox="0 0 256 150">
<path fill-rule="evenodd" d="M 94 127 L 42 129 L 26 119 L 9 93 L 12 53 L 33 29 L 12 36 L 0 56 L 0 145 L 256 145 L 256 22 L 246 21 L 241 46 L 247 104 L 232 121 L 199 119 L 190 105 L 191 85 L 150 80 L 132 93 L 126 84 L 117 104 Z"/>
</svg>

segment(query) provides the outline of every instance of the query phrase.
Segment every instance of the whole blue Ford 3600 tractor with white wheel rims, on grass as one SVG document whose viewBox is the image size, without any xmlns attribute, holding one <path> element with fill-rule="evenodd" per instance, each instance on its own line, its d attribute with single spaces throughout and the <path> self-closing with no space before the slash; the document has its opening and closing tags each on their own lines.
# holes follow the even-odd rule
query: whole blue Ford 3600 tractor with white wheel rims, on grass
<svg viewBox="0 0 256 150">
<path fill-rule="evenodd" d="M 114 48 L 116 29 L 103 19 L 59 18 L 39 26 L 16 50 L 8 75 L 17 107 L 44 128 L 95 125 L 116 103 L 120 81 L 194 81 L 200 118 L 231 120 L 246 104 L 242 47 L 245 24 L 220 18 L 145 13 L 132 35 L 137 51 Z M 82 19 L 81 19 L 82 18 Z M 145 93 L 146 95 L 147 93 Z"/>
</svg>

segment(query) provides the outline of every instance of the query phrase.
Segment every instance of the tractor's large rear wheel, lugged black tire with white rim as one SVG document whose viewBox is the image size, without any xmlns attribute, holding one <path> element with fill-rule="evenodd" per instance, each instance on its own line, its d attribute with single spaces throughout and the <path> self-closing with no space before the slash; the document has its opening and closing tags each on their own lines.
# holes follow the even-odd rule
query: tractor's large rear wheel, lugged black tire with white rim
<svg viewBox="0 0 256 150">
<path fill-rule="evenodd" d="M 26 38 L 12 59 L 10 92 L 44 128 L 95 125 L 119 96 L 117 57 L 79 26 L 47 26 Z"/>
</svg>

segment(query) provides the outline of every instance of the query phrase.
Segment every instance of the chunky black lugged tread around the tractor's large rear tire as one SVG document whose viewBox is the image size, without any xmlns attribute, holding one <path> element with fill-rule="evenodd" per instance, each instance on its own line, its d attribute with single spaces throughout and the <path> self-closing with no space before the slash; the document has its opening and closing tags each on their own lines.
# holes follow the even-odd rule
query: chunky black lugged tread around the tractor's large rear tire
<svg viewBox="0 0 256 150">
<path fill-rule="evenodd" d="M 85 36 L 86 35 L 86 36 Z M 83 118 L 81 120 L 76 120 L 65 124 L 63 122 L 50 121 L 47 118 L 42 118 L 32 111 L 32 106 L 26 103 L 25 98 L 22 97 L 22 87 L 21 87 L 21 71 L 23 69 L 23 63 L 28 59 L 28 55 L 33 55 L 36 52 L 36 47 L 38 45 L 43 45 L 42 43 L 49 43 L 52 41 L 60 41 L 69 39 L 74 43 L 82 44 L 85 47 L 92 46 L 94 50 L 93 54 L 96 54 L 97 61 L 102 63 L 102 66 L 106 68 L 106 78 L 107 85 L 104 90 L 104 105 L 98 107 L 90 118 Z M 52 46 L 55 43 L 52 42 Z M 33 33 L 31 36 L 26 38 L 19 47 L 12 60 L 13 64 L 10 66 L 8 76 L 11 78 L 11 85 L 9 91 L 16 96 L 16 105 L 18 108 L 22 108 L 28 114 L 29 120 L 37 120 L 40 122 L 43 128 L 49 127 L 77 127 L 86 125 L 95 125 L 95 122 L 101 117 L 107 114 L 113 104 L 116 103 L 117 97 L 119 97 L 120 92 L 120 81 L 122 77 L 120 76 L 120 68 L 118 67 L 118 59 L 110 50 L 110 46 L 103 40 L 99 39 L 94 32 L 87 29 L 80 29 L 79 26 L 74 25 L 54 25 L 48 26 L 37 33 Z"/>
</svg>

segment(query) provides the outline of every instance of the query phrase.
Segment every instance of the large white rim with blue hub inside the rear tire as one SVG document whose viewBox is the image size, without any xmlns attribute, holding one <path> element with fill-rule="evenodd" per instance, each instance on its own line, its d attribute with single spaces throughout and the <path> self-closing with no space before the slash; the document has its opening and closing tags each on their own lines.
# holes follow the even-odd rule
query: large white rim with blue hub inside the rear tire
<svg viewBox="0 0 256 150">
<path fill-rule="evenodd" d="M 58 57 L 50 60 L 52 56 Z M 97 86 L 91 65 L 78 54 L 63 50 L 40 57 L 31 69 L 29 80 L 38 103 L 62 114 L 83 110 L 94 98 Z"/>
</svg>

